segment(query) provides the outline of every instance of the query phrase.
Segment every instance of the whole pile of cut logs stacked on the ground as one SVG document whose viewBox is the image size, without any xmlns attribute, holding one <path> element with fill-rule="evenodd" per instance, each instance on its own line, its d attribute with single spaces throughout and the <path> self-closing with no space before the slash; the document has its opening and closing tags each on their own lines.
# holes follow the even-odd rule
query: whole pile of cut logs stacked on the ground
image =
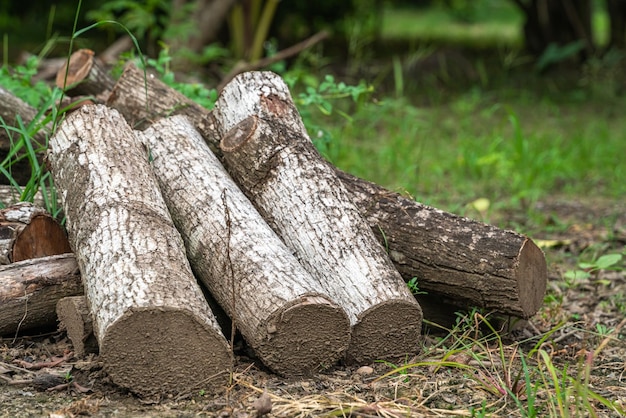
<svg viewBox="0 0 626 418">
<path fill-rule="evenodd" d="M 38 290 L 4 279 L 29 277 L 55 289 L 47 318 L 58 301 L 79 352 L 93 330 L 114 382 L 172 394 L 227 384 L 235 329 L 265 366 L 299 375 L 414 355 L 422 316 L 541 305 L 546 263 L 529 238 L 339 171 L 275 74 L 237 76 L 213 111 L 133 64 L 114 81 L 86 51 L 57 82 L 95 103 L 49 142 L 73 256 L 19 262 L 7 244 L 2 334 L 45 324 L 31 320 Z"/>
</svg>

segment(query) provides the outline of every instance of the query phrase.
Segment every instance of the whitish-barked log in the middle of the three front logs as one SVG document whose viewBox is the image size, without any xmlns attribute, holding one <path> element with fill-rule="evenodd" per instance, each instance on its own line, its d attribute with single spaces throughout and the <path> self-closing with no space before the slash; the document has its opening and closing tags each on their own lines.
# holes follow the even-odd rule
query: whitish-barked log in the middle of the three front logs
<svg viewBox="0 0 626 418">
<path fill-rule="evenodd" d="M 324 293 L 183 115 L 142 133 L 196 276 L 263 363 L 301 375 L 343 357 L 346 313 Z"/>
</svg>

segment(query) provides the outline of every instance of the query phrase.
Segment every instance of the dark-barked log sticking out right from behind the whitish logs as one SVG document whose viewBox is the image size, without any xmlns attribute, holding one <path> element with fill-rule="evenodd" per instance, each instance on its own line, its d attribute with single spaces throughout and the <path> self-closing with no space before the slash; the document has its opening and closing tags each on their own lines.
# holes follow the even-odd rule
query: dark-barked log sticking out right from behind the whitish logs
<svg viewBox="0 0 626 418">
<path fill-rule="evenodd" d="M 548 269 L 528 237 L 421 205 L 346 173 L 339 176 L 405 280 L 417 277 L 420 290 L 428 292 L 418 300 L 441 296 L 458 307 L 522 318 L 541 307 Z"/>
</svg>

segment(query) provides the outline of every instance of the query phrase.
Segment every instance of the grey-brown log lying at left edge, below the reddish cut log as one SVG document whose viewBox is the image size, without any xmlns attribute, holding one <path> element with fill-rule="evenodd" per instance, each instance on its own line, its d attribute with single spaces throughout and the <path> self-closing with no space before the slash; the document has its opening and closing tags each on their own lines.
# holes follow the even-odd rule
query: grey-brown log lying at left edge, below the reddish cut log
<svg viewBox="0 0 626 418">
<path fill-rule="evenodd" d="M 0 335 L 56 327 L 57 301 L 82 292 L 71 254 L 0 266 Z"/>
</svg>

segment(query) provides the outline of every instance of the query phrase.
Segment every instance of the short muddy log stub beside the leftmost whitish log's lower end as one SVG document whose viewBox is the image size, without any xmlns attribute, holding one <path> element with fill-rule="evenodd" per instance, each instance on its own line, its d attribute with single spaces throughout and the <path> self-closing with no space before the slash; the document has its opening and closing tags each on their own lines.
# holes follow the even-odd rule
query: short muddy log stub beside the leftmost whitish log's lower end
<svg viewBox="0 0 626 418">
<path fill-rule="evenodd" d="M 65 329 L 74 346 L 74 356 L 98 352 L 98 341 L 93 334 L 93 321 L 85 296 L 70 296 L 60 299 L 56 309 L 59 328 Z"/>
</svg>

